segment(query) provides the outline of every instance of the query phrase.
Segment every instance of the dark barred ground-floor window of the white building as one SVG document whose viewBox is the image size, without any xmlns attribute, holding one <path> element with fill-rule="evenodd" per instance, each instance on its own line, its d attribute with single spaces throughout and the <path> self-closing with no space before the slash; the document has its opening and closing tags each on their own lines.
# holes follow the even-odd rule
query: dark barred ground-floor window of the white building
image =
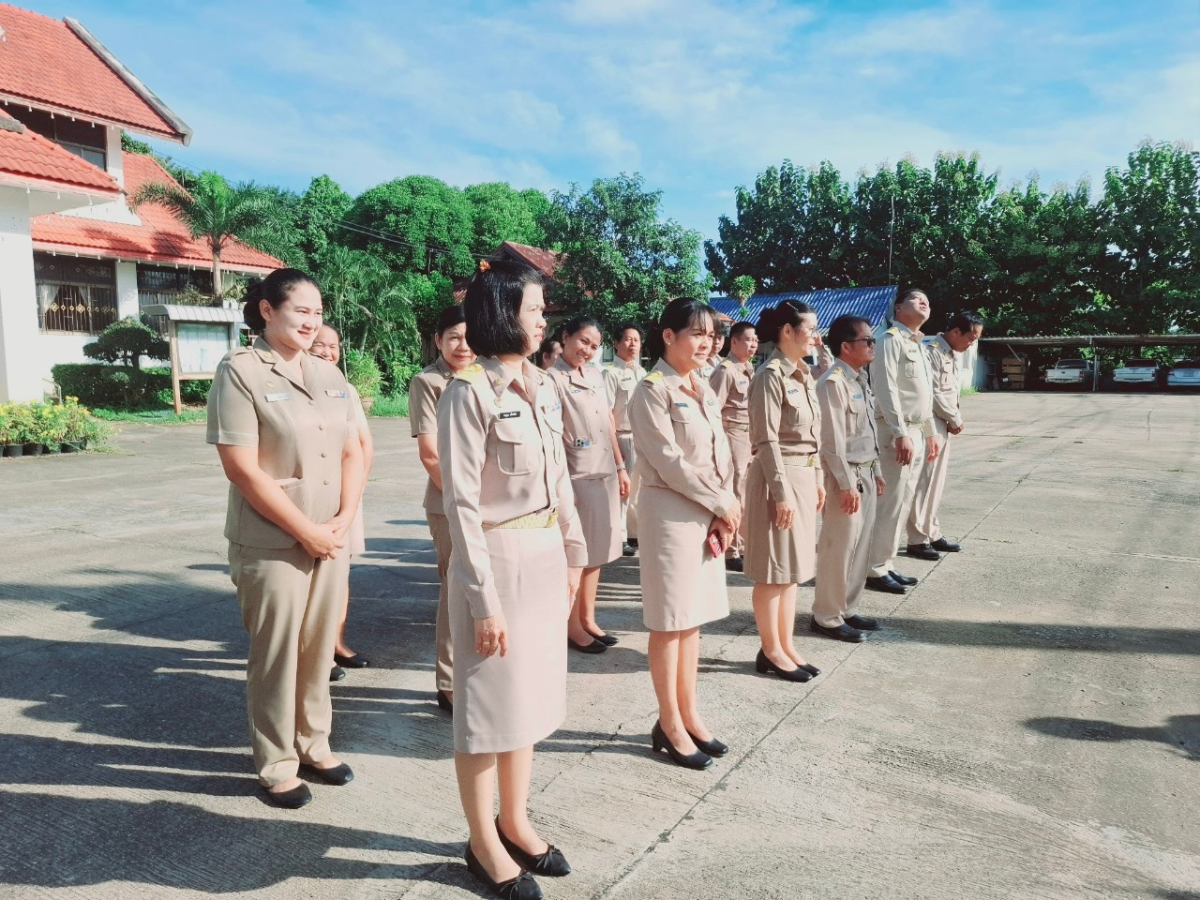
<svg viewBox="0 0 1200 900">
<path fill-rule="evenodd" d="M 116 322 L 116 266 L 106 259 L 34 253 L 37 325 L 96 335 Z"/>
</svg>

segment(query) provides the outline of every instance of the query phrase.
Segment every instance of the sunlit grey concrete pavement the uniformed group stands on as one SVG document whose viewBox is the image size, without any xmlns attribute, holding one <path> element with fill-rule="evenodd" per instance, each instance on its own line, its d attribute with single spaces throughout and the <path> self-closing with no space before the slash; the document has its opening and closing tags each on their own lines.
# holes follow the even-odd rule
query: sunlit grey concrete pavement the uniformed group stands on
<svg viewBox="0 0 1200 900">
<path fill-rule="evenodd" d="M 884 630 L 754 673 L 749 583 L 704 629 L 733 748 L 649 752 L 636 560 L 622 638 L 571 655 L 530 802 L 575 874 L 550 898 L 1200 899 L 1200 397 L 965 398 L 942 521 L 965 552 L 869 594 Z M 403 420 L 373 420 L 367 554 L 334 685 L 358 779 L 256 797 L 226 482 L 199 426 L 0 463 L 0 898 L 469 898 L 450 722 L 432 703 L 433 554 Z M 806 611 L 811 588 L 802 588 Z"/>
</svg>

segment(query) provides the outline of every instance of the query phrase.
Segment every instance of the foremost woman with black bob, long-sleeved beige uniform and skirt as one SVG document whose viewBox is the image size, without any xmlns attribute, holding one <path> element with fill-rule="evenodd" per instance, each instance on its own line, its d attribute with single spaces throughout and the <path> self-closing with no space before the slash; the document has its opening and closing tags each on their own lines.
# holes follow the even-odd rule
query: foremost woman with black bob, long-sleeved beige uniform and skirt
<svg viewBox="0 0 1200 900">
<path fill-rule="evenodd" d="M 563 448 L 563 412 L 526 356 L 546 328 L 541 274 L 485 260 L 467 288 L 480 361 L 438 404 L 450 521 L 455 769 L 470 826 L 467 865 L 498 896 L 540 898 L 570 866 L 526 809 L 533 748 L 566 715 L 566 618 L 587 547 Z M 500 814 L 492 792 L 499 775 Z"/>
</svg>

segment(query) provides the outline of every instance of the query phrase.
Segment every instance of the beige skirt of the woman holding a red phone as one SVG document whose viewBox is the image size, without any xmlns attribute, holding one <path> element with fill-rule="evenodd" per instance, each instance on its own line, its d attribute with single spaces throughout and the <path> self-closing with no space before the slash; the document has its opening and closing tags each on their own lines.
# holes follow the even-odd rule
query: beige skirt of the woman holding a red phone
<svg viewBox="0 0 1200 900">
<path fill-rule="evenodd" d="M 642 620 L 650 631 L 686 631 L 730 614 L 725 557 L 708 548 L 713 514 L 666 487 L 638 494 Z"/>
</svg>

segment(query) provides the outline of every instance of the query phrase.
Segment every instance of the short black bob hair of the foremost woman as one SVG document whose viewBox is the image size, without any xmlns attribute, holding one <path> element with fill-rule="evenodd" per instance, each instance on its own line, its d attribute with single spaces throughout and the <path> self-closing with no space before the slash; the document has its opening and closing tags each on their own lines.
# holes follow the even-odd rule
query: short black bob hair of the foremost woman
<svg viewBox="0 0 1200 900">
<path fill-rule="evenodd" d="M 516 259 L 485 259 L 462 301 L 467 343 L 479 356 L 526 356 L 528 337 L 521 328 L 521 301 L 529 284 L 545 286 L 540 271 Z"/>
</svg>

